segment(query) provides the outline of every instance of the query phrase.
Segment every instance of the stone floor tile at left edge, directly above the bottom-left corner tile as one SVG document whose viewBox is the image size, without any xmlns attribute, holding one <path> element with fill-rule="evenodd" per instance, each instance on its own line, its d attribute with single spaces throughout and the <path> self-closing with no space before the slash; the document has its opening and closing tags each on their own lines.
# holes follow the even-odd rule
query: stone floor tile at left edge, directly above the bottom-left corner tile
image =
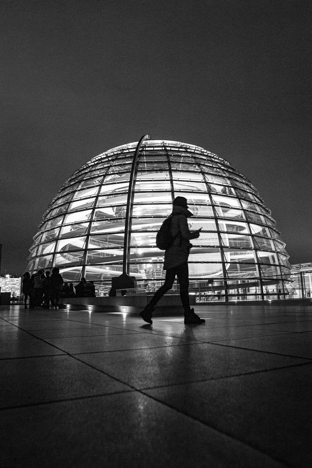
<svg viewBox="0 0 312 468">
<path fill-rule="evenodd" d="M 2 360 L 0 374 L 1 408 L 130 389 L 67 355 Z"/>
</svg>

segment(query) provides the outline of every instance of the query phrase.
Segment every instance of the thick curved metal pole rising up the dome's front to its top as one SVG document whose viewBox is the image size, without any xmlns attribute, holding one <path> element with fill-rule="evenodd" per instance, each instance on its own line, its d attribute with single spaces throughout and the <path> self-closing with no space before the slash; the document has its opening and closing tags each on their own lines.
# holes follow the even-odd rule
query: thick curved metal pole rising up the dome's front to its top
<svg viewBox="0 0 312 468">
<path fill-rule="evenodd" d="M 131 167 L 131 174 L 130 174 L 130 182 L 129 182 L 129 190 L 128 190 L 128 198 L 127 198 L 127 210 L 126 210 L 126 222 L 124 227 L 124 242 L 123 242 L 123 273 L 130 273 L 130 238 L 131 238 L 131 214 L 132 214 L 132 201 L 133 201 L 133 190 L 135 185 L 135 173 L 136 173 L 136 166 L 138 161 L 138 154 L 140 151 L 140 147 L 145 140 L 150 140 L 151 137 L 149 135 L 144 135 L 140 138 L 136 150 L 133 155 L 132 160 L 132 167 Z"/>
</svg>

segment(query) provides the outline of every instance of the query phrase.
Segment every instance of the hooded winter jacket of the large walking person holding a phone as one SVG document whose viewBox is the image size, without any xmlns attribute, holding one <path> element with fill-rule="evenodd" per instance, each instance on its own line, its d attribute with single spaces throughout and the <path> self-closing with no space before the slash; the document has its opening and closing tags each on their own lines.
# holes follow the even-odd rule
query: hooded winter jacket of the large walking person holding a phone
<svg viewBox="0 0 312 468">
<path fill-rule="evenodd" d="M 190 231 L 187 218 L 192 216 L 187 208 L 173 206 L 170 233 L 175 237 L 173 244 L 165 252 L 164 270 L 170 270 L 188 261 L 191 244 L 189 239 L 197 239 L 199 233 Z"/>
</svg>

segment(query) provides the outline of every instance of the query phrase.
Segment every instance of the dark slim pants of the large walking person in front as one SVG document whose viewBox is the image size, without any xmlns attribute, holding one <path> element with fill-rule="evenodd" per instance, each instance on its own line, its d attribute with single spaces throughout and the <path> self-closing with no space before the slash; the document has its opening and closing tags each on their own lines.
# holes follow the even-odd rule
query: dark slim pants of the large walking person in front
<svg viewBox="0 0 312 468">
<path fill-rule="evenodd" d="M 180 283 L 180 297 L 184 312 L 189 312 L 189 265 L 188 263 L 182 263 L 175 268 L 171 268 L 166 271 L 166 280 L 165 284 L 162 285 L 158 291 L 155 292 L 152 300 L 150 301 L 150 306 L 155 306 L 157 302 L 162 298 L 162 296 L 172 288 L 174 284 L 175 276 L 178 277 Z"/>
</svg>

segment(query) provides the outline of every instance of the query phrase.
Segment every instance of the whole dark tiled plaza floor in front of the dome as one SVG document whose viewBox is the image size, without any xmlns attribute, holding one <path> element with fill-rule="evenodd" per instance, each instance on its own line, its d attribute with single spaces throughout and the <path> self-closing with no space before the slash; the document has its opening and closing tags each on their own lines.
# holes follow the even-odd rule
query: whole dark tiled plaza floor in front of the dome
<svg viewBox="0 0 312 468">
<path fill-rule="evenodd" d="M 311 467 L 312 307 L 0 306 L 7 467 Z"/>
</svg>

